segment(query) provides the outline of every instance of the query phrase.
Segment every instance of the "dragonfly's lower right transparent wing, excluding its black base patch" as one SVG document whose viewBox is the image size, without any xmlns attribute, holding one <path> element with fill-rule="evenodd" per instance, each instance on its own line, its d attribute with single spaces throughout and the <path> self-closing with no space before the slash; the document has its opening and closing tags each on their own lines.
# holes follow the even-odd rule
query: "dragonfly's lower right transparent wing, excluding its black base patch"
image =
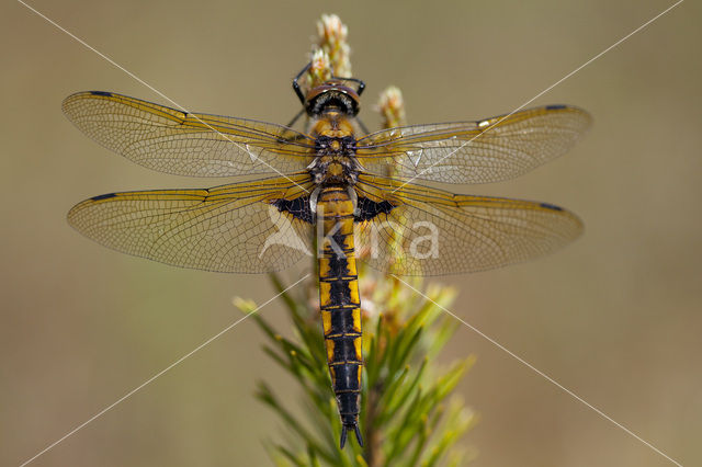
<svg viewBox="0 0 702 467">
<path fill-rule="evenodd" d="M 456 195 L 361 175 L 362 198 L 394 206 L 356 225 L 359 258 L 400 275 L 482 271 L 550 253 L 576 239 L 582 224 L 546 203 Z M 386 204 L 387 206 L 387 204 Z"/>
</svg>

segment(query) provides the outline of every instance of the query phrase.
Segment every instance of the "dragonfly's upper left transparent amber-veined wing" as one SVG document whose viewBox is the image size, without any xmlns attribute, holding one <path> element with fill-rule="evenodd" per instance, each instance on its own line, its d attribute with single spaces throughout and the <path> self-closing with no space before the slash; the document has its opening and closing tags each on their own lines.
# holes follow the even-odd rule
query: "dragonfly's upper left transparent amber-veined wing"
<svg viewBox="0 0 702 467">
<path fill-rule="evenodd" d="M 308 136 L 285 126 L 189 114 L 112 92 L 79 92 L 63 107 L 81 132 L 106 148 L 178 175 L 297 172 L 315 147 Z"/>
</svg>

